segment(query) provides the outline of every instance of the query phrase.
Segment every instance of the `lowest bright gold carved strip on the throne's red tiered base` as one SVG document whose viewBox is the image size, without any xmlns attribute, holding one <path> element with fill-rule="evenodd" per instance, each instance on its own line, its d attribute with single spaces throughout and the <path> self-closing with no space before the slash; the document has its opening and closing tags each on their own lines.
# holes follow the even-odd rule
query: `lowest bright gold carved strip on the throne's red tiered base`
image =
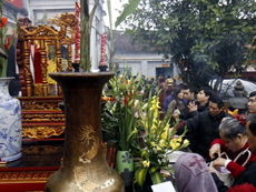
<svg viewBox="0 0 256 192">
<path fill-rule="evenodd" d="M 53 135 L 60 135 L 65 132 L 65 125 L 57 127 L 23 127 L 22 137 L 31 139 L 45 139 Z"/>
</svg>

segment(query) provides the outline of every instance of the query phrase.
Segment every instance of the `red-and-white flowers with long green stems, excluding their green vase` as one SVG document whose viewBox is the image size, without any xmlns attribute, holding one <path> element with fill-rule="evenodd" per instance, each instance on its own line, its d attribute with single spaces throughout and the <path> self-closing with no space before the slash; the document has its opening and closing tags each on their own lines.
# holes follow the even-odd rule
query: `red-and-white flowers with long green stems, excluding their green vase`
<svg viewBox="0 0 256 192">
<path fill-rule="evenodd" d="M 102 130 L 108 134 L 109 142 L 117 144 L 118 150 L 129 151 L 135 144 L 138 108 L 142 98 L 139 92 L 140 82 L 138 75 L 129 79 L 127 72 L 124 72 L 120 78 L 109 80 L 110 98 L 102 97 L 106 101 Z"/>
</svg>

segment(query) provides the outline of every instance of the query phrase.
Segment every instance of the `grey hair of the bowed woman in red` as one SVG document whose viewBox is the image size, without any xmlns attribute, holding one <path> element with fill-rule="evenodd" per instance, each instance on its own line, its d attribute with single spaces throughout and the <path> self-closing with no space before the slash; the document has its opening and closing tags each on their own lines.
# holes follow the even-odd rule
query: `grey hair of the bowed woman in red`
<svg viewBox="0 0 256 192">
<path fill-rule="evenodd" d="M 225 118 L 218 128 L 227 139 L 236 139 L 237 134 L 246 135 L 245 127 L 236 119 Z"/>
</svg>

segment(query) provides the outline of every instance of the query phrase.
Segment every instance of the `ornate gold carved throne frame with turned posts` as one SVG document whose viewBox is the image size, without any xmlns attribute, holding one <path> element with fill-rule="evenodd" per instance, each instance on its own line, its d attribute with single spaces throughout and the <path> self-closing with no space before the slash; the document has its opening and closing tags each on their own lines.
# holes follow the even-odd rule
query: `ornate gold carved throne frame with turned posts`
<svg viewBox="0 0 256 192">
<path fill-rule="evenodd" d="M 28 97 L 35 95 L 33 93 L 33 79 L 30 71 L 30 47 L 36 40 L 40 43 L 40 54 L 41 54 L 41 77 L 42 77 L 42 94 L 48 95 L 48 82 L 47 82 L 47 44 L 56 46 L 57 55 L 57 71 L 62 71 L 61 69 L 61 44 L 68 44 L 68 47 L 75 43 L 75 13 L 62 13 L 50 20 L 53 26 L 58 26 L 60 30 L 55 29 L 53 26 L 39 26 L 31 27 L 26 20 L 20 20 L 19 26 L 19 41 L 23 43 L 22 51 L 22 62 L 23 62 L 23 75 L 26 82 L 26 93 Z M 71 49 L 68 48 L 69 59 L 68 59 L 68 70 L 72 71 L 71 68 Z M 60 90 L 60 88 L 58 89 Z M 59 92 L 60 94 L 60 92 Z"/>
</svg>

